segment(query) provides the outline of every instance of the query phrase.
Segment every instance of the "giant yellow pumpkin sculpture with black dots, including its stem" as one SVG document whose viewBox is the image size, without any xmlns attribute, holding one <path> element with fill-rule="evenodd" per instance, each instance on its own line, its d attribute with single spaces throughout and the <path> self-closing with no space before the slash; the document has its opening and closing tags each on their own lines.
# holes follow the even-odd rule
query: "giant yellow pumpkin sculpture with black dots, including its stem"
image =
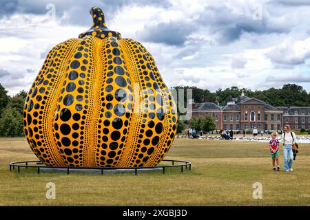
<svg viewBox="0 0 310 220">
<path fill-rule="evenodd" d="M 24 132 L 49 166 L 156 166 L 176 133 L 176 106 L 151 54 L 108 30 L 103 12 L 49 52 L 28 93 Z"/>
</svg>

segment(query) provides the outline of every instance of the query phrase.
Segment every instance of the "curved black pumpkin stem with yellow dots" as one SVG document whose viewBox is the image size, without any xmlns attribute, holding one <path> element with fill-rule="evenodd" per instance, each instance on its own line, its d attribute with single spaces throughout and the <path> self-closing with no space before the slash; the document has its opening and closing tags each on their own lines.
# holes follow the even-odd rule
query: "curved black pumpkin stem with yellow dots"
<svg viewBox="0 0 310 220">
<path fill-rule="evenodd" d="M 121 34 L 118 32 L 114 32 L 113 30 L 109 30 L 107 25 L 105 24 L 105 14 L 101 8 L 92 7 L 90 9 L 90 14 L 92 15 L 92 27 L 90 30 L 83 32 L 79 35 L 79 39 L 82 39 L 86 35 L 96 36 L 99 39 L 105 39 L 109 36 L 114 36 L 116 39 L 121 39 Z"/>
</svg>

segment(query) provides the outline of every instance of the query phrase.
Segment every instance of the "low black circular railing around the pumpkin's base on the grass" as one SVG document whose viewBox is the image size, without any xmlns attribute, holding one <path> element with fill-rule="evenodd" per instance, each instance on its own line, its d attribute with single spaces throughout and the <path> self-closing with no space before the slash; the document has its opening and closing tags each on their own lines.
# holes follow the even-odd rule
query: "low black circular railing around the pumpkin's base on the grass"
<svg viewBox="0 0 310 220">
<path fill-rule="evenodd" d="M 39 160 L 29 160 L 29 161 L 19 161 L 19 162 L 10 162 L 10 171 L 17 167 L 18 173 L 21 172 L 21 167 L 23 168 L 37 168 L 38 174 L 40 174 L 40 170 L 42 169 L 61 169 L 67 171 L 67 174 L 70 173 L 70 170 L 100 170 L 101 175 L 103 175 L 104 170 L 132 170 L 132 172 L 137 175 L 138 170 L 154 170 L 160 169 L 163 170 L 163 174 L 165 174 L 166 168 L 169 167 L 180 167 L 181 172 L 183 172 L 184 168 L 189 170 L 192 168 L 192 163 L 185 160 L 177 160 L 177 159 L 163 159 L 162 162 L 172 162 L 171 165 L 161 165 L 161 166 L 141 166 L 141 167 L 81 167 L 81 166 L 45 166 Z"/>
</svg>

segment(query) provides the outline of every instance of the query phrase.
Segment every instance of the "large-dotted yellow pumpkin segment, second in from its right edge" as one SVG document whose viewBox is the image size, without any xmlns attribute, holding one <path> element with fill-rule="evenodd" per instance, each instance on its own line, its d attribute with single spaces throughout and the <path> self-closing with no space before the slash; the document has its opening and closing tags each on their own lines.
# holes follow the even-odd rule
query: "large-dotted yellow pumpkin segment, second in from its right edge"
<svg viewBox="0 0 310 220">
<path fill-rule="evenodd" d="M 156 117 L 158 111 L 163 111 L 163 104 L 159 103 L 155 96 L 161 96 L 161 91 L 156 91 L 158 88 L 156 79 L 151 77 L 152 71 L 147 62 L 147 58 L 140 47 L 140 43 L 132 39 L 123 39 L 125 47 L 128 50 L 128 62 L 134 66 L 134 72 L 130 73 L 132 76 L 136 76 L 138 92 L 135 92 L 136 98 L 135 106 L 138 106 L 138 113 L 136 113 L 138 121 L 141 121 L 138 129 L 134 131 L 138 132 L 138 138 L 134 140 L 134 144 L 130 144 L 132 147 L 127 156 L 127 164 L 125 166 L 145 166 L 145 163 L 149 157 L 154 153 L 154 149 L 158 146 L 158 142 L 162 136 L 163 119 Z M 134 56 L 132 56 L 134 54 Z M 127 63 L 128 63 L 127 62 Z M 151 108 L 150 106 L 153 105 Z M 135 111 L 136 112 L 136 111 Z M 154 126 L 150 126 L 149 122 L 153 121 Z M 156 127 L 161 127 L 161 131 L 156 132 Z M 138 142 L 138 144 L 136 144 Z"/>
</svg>

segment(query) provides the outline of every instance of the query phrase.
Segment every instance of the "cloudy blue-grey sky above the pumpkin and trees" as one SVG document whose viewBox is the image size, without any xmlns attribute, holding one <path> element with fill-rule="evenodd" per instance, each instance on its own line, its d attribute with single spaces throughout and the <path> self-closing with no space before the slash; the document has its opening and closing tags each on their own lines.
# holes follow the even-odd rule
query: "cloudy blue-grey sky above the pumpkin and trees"
<svg viewBox="0 0 310 220">
<path fill-rule="evenodd" d="M 11 96 L 30 89 L 54 45 L 90 28 L 95 5 L 110 30 L 145 45 L 168 87 L 310 91 L 309 0 L 0 0 L 0 83 Z"/>
</svg>

